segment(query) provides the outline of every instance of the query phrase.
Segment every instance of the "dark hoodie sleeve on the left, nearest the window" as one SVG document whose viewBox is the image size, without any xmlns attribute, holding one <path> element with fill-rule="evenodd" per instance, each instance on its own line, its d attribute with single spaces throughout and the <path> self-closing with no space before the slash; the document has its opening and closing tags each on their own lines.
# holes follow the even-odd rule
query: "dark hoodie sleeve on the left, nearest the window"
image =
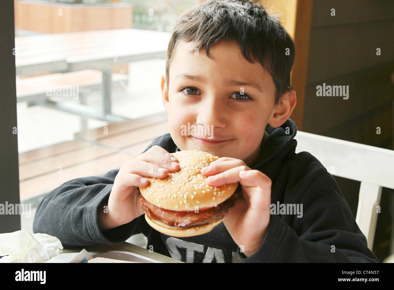
<svg viewBox="0 0 394 290">
<path fill-rule="evenodd" d="M 33 232 L 55 236 L 65 248 L 124 242 L 132 236 L 139 217 L 104 232 L 98 222 L 99 206 L 108 200 L 118 172 L 76 178 L 52 190 L 37 208 Z"/>
</svg>

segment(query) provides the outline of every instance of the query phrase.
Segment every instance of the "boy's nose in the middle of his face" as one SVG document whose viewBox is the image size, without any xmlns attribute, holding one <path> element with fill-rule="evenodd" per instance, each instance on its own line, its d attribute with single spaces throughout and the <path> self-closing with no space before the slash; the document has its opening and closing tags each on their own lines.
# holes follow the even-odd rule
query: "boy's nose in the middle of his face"
<svg viewBox="0 0 394 290">
<path fill-rule="evenodd" d="M 214 97 L 206 97 L 197 113 L 197 125 L 220 128 L 226 126 L 226 111 L 223 104 Z"/>
</svg>

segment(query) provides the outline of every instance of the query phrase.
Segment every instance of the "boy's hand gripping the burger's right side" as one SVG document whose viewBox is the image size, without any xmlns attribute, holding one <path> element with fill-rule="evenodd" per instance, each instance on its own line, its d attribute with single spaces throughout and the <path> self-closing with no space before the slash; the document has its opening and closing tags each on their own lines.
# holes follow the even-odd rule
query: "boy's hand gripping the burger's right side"
<svg viewBox="0 0 394 290">
<path fill-rule="evenodd" d="M 210 186 L 239 181 L 242 196 L 223 223 L 235 243 L 249 257 L 261 246 L 270 219 L 271 179 L 259 170 L 252 170 L 240 160 L 221 157 L 201 170 Z M 213 179 L 212 179 L 213 178 Z"/>
</svg>

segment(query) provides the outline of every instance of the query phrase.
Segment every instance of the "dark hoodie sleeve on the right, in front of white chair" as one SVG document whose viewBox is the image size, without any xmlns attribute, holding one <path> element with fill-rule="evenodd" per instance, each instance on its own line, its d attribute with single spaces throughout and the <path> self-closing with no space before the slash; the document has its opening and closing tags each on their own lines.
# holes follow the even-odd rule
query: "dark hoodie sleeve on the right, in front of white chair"
<svg viewBox="0 0 394 290">
<path fill-rule="evenodd" d="M 258 251 L 246 257 L 238 248 L 241 262 L 379 262 L 327 170 L 297 203 L 303 204 L 303 216 L 292 215 L 286 223 L 271 215 Z"/>
</svg>

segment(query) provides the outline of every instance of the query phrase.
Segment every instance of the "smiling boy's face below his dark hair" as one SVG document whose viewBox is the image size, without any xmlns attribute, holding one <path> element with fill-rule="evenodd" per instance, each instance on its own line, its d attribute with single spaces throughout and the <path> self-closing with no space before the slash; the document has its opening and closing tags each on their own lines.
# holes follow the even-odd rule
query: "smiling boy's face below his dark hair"
<svg viewBox="0 0 394 290">
<path fill-rule="evenodd" d="M 272 77 L 259 63 L 243 58 L 236 41 L 212 46 L 214 59 L 205 49 L 197 54 L 194 48 L 192 42 L 179 41 L 169 68 L 168 94 L 162 80 L 171 137 L 180 150 L 241 159 L 249 166 L 259 155 L 264 129 L 275 111 Z"/>
</svg>

